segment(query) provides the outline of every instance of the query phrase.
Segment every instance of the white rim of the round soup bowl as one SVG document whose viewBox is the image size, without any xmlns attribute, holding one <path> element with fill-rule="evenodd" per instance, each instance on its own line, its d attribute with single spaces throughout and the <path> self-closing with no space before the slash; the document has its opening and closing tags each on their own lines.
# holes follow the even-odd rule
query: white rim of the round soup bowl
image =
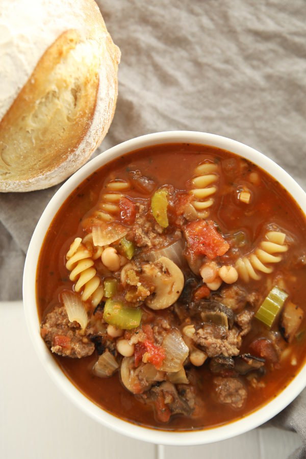
<svg viewBox="0 0 306 459">
<path fill-rule="evenodd" d="M 38 353 L 39 359 L 50 377 L 75 405 L 99 423 L 110 427 L 129 437 L 163 445 L 199 445 L 212 443 L 244 433 L 254 427 L 258 427 L 282 411 L 306 386 L 306 365 L 302 367 L 296 377 L 290 382 L 283 392 L 268 402 L 257 411 L 243 417 L 240 420 L 228 424 L 203 430 L 194 431 L 163 431 L 142 427 L 113 416 L 90 401 L 83 395 L 70 380 L 64 375 L 60 367 L 53 359 L 52 354 L 40 336 L 39 318 L 36 308 L 35 273 L 45 234 L 52 222 L 56 212 L 61 207 L 69 194 L 88 175 L 99 167 L 108 163 L 129 151 L 136 150 L 149 145 L 163 143 L 189 142 L 204 145 L 213 145 L 232 151 L 237 155 L 246 158 L 266 170 L 270 175 L 281 183 L 298 203 L 304 214 L 306 214 L 306 194 L 300 186 L 272 160 L 261 154 L 259 151 L 250 148 L 235 140 L 214 134 L 173 131 L 156 134 L 148 134 L 128 140 L 110 148 L 103 154 L 89 161 L 80 170 L 75 172 L 68 179 L 48 203 L 43 212 L 29 246 L 27 259 L 25 260 L 23 275 L 23 302 L 25 317 L 31 335 L 32 342 Z"/>
</svg>

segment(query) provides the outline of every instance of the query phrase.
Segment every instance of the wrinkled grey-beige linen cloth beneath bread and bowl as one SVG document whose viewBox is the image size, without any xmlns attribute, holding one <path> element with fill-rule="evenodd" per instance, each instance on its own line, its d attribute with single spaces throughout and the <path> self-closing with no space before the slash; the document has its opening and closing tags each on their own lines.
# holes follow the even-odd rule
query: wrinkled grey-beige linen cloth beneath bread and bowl
<svg viewBox="0 0 306 459">
<path fill-rule="evenodd" d="M 119 95 L 94 156 L 158 131 L 203 131 L 262 151 L 306 189 L 304 0 L 98 2 L 121 49 Z M 0 299 L 21 299 L 35 225 L 59 187 L 0 194 Z M 274 424 L 296 430 L 306 457 L 306 393 Z"/>
</svg>

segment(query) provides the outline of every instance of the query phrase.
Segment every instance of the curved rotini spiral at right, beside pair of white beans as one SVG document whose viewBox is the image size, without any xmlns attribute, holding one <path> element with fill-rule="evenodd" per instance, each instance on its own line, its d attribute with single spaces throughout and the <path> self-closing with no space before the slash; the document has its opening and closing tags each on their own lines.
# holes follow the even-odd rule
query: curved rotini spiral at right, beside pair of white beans
<svg viewBox="0 0 306 459">
<path fill-rule="evenodd" d="M 250 278 L 258 281 L 261 277 L 258 271 L 267 274 L 271 273 L 273 267 L 267 266 L 267 264 L 279 263 L 282 260 L 281 255 L 275 255 L 274 253 L 282 253 L 288 250 L 288 245 L 285 244 L 285 233 L 269 231 L 266 233 L 265 238 L 254 252 L 247 257 L 239 258 L 236 262 L 235 266 L 238 275 L 244 282 L 249 282 Z"/>
</svg>

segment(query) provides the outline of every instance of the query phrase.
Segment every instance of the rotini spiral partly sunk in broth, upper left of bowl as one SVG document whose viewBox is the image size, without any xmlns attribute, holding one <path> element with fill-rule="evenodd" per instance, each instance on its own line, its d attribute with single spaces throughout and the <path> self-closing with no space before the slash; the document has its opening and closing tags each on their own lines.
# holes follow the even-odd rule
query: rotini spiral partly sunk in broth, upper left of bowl
<svg viewBox="0 0 306 459">
<path fill-rule="evenodd" d="M 83 220 L 83 226 L 94 224 L 99 221 L 110 222 L 119 214 L 119 201 L 124 197 L 123 191 L 131 188 L 131 184 L 125 180 L 112 180 L 106 185 L 106 192 L 100 196 L 98 208 L 90 217 Z"/>
</svg>

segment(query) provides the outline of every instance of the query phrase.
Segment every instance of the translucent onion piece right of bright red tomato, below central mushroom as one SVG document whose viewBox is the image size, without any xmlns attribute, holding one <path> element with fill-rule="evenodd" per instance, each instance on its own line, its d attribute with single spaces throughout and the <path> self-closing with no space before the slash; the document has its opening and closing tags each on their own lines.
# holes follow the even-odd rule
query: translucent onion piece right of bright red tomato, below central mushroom
<svg viewBox="0 0 306 459">
<path fill-rule="evenodd" d="M 163 339 L 162 347 L 166 351 L 166 357 L 161 370 L 171 373 L 181 370 L 189 354 L 189 349 L 180 332 L 176 329 L 169 331 Z"/>
</svg>

